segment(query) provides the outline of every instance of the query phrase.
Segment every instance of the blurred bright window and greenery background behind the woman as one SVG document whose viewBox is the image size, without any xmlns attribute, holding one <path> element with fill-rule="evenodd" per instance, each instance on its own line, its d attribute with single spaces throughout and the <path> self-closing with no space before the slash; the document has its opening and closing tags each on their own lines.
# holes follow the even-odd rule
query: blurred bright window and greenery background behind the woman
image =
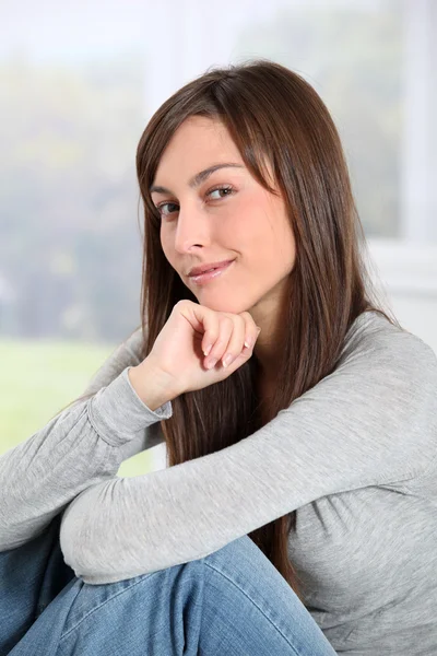
<svg viewBox="0 0 437 656">
<path fill-rule="evenodd" d="M 437 351 L 435 0 L 1 0 L 0 453 L 140 325 L 147 120 L 209 67 L 256 57 L 328 105 L 375 280 Z"/>
</svg>

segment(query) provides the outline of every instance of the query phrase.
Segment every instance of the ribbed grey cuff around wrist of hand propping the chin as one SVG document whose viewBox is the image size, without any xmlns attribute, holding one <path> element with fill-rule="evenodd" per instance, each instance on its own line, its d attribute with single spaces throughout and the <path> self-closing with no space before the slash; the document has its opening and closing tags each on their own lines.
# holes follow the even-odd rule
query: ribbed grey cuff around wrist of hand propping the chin
<svg viewBox="0 0 437 656">
<path fill-rule="evenodd" d="M 143 403 L 129 380 L 130 368 L 126 367 L 107 387 L 99 389 L 87 406 L 90 422 L 113 446 L 129 442 L 139 431 L 173 414 L 170 401 L 155 411 Z"/>
</svg>

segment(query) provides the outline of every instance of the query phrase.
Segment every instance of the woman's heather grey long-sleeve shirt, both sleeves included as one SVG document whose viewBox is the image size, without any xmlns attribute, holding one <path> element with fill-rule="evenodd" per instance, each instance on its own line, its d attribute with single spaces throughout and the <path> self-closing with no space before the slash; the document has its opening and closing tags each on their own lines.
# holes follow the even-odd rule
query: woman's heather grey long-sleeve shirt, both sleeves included
<svg viewBox="0 0 437 656">
<path fill-rule="evenodd" d="M 86 583 L 109 583 L 202 558 L 296 509 L 290 558 L 334 649 L 437 654 L 433 350 L 364 313 L 335 371 L 255 434 L 118 478 L 172 415 L 172 403 L 152 412 L 129 382 L 140 345 L 137 331 L 92 380 L 91 400 L 0 457 L 0 551 L 64 511 L 66 562 Z"/>
</svg>

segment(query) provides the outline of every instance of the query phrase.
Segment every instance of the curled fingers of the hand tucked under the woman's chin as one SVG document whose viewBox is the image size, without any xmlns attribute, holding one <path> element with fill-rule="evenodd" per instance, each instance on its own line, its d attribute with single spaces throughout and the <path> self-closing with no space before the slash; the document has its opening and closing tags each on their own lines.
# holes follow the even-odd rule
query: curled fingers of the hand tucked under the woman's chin
<svg viewBox="0 0 437 656">
<path fill-rule="evenodd" d="M 240 355 L 251 355 L 260 329 L 249 313 L 227 315 L 211 311 L 203 318 L 202 351 L 206 368 L 218 361 L 226 368 Z"/>
</svg>

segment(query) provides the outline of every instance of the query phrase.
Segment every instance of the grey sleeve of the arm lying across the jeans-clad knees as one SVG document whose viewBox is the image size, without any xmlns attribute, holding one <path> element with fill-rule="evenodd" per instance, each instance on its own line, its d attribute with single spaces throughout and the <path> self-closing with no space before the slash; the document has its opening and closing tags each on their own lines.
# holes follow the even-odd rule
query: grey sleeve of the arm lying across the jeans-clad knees
<svg viewBox="0 0 437 656">
<path fill-rule="evenodd" d="M 437 366 L 410 333 L 363 339 L 265 426 L 222 450 L 97 483 L 67 508 L 66 562 L 85 583 L 203 558 L 315 501 L 405 481 L 436 455 Z"/>
</svg>

